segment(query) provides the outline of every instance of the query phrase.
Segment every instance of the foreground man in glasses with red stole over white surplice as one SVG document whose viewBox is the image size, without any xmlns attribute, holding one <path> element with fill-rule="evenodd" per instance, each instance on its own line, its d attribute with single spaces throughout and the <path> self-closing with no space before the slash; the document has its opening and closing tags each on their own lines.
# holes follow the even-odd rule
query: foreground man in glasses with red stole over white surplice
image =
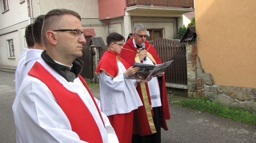
<svg viewBox="0 0 256 143">
<path fill-rule="evenodd" d="M 81 30 L 81 17 L 74 11 L 55 9 L 44 16 L 46 50 L 24 78 L 13 104 L 17 142 L 118 142 L 80 76 L 83 62 L 77 57 L 86 43 Z"/>
</svg>

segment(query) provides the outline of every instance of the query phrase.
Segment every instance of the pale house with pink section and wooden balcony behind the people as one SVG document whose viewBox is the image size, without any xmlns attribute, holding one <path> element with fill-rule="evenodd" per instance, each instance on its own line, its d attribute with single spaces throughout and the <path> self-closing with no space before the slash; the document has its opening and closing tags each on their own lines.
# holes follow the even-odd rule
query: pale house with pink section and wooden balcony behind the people
<svg viewBox="0 0 256 143">
<path fill-rule="evenodd" d="M 27 48 L 25 28 L 34 19 L 55 8 L 66 8 L 80 14 L 82 28 L 89 43 L 90 37 L 102 37 L 110 32 L 124 37 L 136 24 L 148 29 L 148 40 L 157 37 L 175 39 L 183 26 L 183 13 L 194 11 L 193 0 L 1 0 L 0 68 L 16 69 L 20 54 Z M 111 24 L 105 24 L 105 17 Z M 88 44 L 87 43 L 87 44 Z"/>
</svg>

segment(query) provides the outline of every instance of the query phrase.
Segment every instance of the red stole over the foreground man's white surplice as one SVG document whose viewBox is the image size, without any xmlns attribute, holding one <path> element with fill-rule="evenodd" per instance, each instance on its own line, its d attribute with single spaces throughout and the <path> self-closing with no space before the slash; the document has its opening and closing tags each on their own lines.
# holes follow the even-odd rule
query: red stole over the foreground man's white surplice
<svg viewBox="0 0 256 143">
<path fill-rule="evenodd" d="M 53 93 L 55 99 L 57 100 L 58 105 L 66 114 L 72 131 L 76 132 L 80 140 L 92 143 L 102 143 L 102 137 L 93 115 L 84 104 L 82 99 L 77 93 L 73 93 L 67 90 L 56 78 L 51 75 L 39 62 L 35 62 L 34 66 L 28 72 L 29 75 L 38 78 L 42 81 Z M 45 78 L 47 77 L 47 78 Z M 83 77 L 79 76 L 81 82 L 84 84 L 88 90 L 93 102 L 99 112 L 99 110 L 94 97 L 85 83 Z M 103 118 L 101 117 L 103 122 Z M 103 122 L 104 125 L 104 122 Z M 105 126 L 105 125 L 104 125 Z"/>
</svg>

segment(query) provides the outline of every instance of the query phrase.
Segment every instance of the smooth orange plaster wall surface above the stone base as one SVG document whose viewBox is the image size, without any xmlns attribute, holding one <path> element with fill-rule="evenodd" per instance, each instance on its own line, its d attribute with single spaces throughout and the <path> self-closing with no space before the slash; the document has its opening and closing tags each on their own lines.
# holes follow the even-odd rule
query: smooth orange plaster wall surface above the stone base
<svg viewBox="0 0 256 143">
<path fill-rule="evenodd" d="M 195 0 L 197 53 L 216 85 L 256 88 L 255 0 Z"/>
</svg>

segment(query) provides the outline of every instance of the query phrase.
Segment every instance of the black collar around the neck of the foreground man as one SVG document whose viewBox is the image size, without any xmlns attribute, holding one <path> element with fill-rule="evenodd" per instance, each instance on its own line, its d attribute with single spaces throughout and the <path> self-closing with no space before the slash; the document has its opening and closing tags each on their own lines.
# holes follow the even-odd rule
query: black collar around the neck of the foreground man
<svg viewBox="0 0 256 143">
<path fill-rule="evenodd" d="M 42 52 L 41 57 L 51 68 L 58 72 L 68 82 L 74 82 L 74 79 L 79 77 L 83 69 L 83 61 L 77 58 L 73 61 L 73 66 L 66 66 L 59 62 L 55 62 L 46 54 L 46 50 Z"/>
</svg>

